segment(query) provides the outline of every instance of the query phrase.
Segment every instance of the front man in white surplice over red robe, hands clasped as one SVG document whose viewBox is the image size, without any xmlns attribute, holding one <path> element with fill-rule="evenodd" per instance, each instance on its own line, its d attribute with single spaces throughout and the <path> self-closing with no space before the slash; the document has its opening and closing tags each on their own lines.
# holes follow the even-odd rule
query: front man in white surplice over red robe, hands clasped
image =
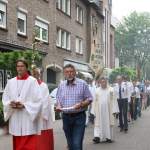
<svg viewBox="0 0 150 150">
<path fill-rule="evenodd" d="M 16 62 L 17 77 L 8 80 L 2 102 L 4 119 L 9 120 L 9 133 L 13 135 L 14 150 L 37 150 L 37 136 L 40 133 L 39 112 L 41 94 L 38 82 L 27 73 L 25 60 Z"/>
</svg>

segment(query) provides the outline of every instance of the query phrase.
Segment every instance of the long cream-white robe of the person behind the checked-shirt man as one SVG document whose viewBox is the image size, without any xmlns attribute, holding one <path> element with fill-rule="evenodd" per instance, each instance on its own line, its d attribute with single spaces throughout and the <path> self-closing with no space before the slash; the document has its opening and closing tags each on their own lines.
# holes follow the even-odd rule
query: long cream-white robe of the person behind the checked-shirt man
<svg viewBox="0 0 150 150">
<path fill-rule="evenodd" d="M 119 112 L 114 90 L 111 87 L 96 89 L 96 98 L 93 101 L 93 113 L 95 115 L 94 137 L 100 137 L 101 141 L 113 139 L 114 113 Z"/>
</svg>

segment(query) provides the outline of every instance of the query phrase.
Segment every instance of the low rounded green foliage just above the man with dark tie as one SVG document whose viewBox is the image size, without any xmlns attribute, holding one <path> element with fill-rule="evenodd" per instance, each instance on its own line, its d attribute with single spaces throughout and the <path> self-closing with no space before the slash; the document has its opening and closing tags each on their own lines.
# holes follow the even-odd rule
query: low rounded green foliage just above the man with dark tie
<svg viewBox="0 0 150 150">
<path fill-rule="evenodd" d="M 114 83 L 118 75 L 128 76 L 129 79 L 135 79 L 136 71 L 129 67 L 120 67 L 120 68 L 113 69 L 113 71 L 109 76 L 109 82 Z"/>
</svg>

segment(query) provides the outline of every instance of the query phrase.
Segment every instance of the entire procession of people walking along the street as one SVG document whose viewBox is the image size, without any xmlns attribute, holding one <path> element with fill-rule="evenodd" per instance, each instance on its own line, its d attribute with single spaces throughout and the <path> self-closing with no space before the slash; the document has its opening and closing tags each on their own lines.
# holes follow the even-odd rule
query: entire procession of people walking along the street
<svg viewBox="0 0 150 150">
<path fill-rule="evenodd" d="M 40 69 L 33 68 L 29 75 L 27 62 L 20 59 L 16 70 L 17 76 L 7 82 L 2 97 L 13 150 L 54 150 L 54 104 Z M 120 132 L 128 133 L 128 123 L 141 117 L 142 110 L 150 105 L 150 81 L 140 83 L 117 76 L 110 85 L 105 77 L 97 81 L 77 78 L 71 64 L 63 71 L 65 80 L 55 92 L 55 111 L 62 114 L 68 150 L 83 150 L 85 128 L 90 122 L 94 124 L 95 144 L 113 142 L 115 120 Z"/>
</svg>

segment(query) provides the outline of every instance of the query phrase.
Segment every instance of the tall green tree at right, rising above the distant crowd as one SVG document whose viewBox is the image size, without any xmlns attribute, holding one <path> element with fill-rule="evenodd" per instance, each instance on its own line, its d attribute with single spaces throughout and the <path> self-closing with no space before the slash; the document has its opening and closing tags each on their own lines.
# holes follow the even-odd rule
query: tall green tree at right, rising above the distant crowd
<svg viewBox="0 0 150 150">
<path fill-rule="evenodd" d="M 119 24 L 115 35 L 120 66 L 134 66 L 140 77 L 150 59 L 150 13 L 131 13 Z"/>
</svg>

